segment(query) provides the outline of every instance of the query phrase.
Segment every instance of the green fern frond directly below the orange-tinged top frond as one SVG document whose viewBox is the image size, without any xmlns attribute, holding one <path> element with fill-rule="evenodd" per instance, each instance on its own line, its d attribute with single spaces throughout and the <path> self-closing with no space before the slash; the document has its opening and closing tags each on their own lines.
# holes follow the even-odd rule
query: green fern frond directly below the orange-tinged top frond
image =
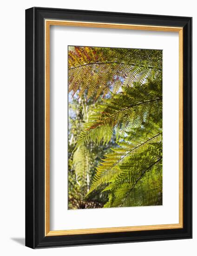
<svg viewBox="0 0 197 256">
<path fill-rule="evenodd" d="M 143 125 L 151 118 L 162 117 L 161 82 L 135 84 L 104 100 L 99 108 L 94 109 L 89 122 L 79 136 L 77 146 L 90 140 L 100 143 L 110 141 L 114 129 L 118 133 L 127 132 L 131 128 Z M 118 134 L 117 133 L 117 134 Z"/>
</svg>

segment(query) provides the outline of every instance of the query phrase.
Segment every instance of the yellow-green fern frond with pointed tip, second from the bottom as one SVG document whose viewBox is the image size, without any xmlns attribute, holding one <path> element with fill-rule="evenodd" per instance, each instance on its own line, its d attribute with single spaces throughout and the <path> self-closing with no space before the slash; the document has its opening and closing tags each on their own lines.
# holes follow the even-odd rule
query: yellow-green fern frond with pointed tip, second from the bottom
<svg viewBox="0 0 197 256">
<path fill-rule="evenodd" d="M 141 138 L 141 141 L 143 141 L 143 138 Z M 126 175 L 133 177 L 135 170 L 131 170 L 130 168 L 134 167 L 134 162 L 138 160 L 137 164 L 139 164 L 139 160 L 144 161 L 145 157 L 149 155 L 152 150 L 152 143 L 156 142 L 159 145 L 161 141 L 162 134 L 157 134 L 154 136 L 151 135 L 149 139 L 144 137 L 144 141 L 135 146 L 125 143 L 124 148 L 112 148 L 112 153 L 105 155 L 105 159 L 103 159 L 103 162 L 100 162 L 97 167 L 97 173 L 93 178 L 90 192 L 96 189 L 101 183 L 112 182 L 112 179 L 119 180 L 118 175 L 122 175 L 125 172 Z M 158 155 L 158 147 L 154 147 L 157 148 L 154 154 Z M 128 163 L 129 170 L 127 170 Z M 118 180 L 116 180 L 116 184 Z"/>
</svg>

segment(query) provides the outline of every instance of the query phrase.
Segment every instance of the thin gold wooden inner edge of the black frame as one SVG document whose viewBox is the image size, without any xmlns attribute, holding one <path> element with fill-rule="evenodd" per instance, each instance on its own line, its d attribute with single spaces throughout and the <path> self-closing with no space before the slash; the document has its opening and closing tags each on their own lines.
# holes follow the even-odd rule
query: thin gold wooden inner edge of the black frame
<svg viewBox="0 0 197 256">
<path fill-rule="evenodd" d="M 50 26 L 105 27 L 179 33 L 179 223 L 115 228 L 50 231 Z M 183 225 L 183 27 L 132 25 L 71 20 L 45 19 L 45 236 L 131 232 L 159 229 L 182 229 Z"/>
</svg>

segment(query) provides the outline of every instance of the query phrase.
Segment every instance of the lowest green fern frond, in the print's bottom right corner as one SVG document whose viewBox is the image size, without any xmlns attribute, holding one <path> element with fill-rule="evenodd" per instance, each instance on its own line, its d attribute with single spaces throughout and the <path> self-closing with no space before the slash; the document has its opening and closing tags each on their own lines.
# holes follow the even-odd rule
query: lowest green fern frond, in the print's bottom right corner
<svg viewBox="0 0 197 256">
<path fill-rule="evenodd" d="M 159 158 L 132 183 L 124 183 L 113 191 L 104 207 L 160 205 L 161 201 L 162 159 Z"/>
</svg>

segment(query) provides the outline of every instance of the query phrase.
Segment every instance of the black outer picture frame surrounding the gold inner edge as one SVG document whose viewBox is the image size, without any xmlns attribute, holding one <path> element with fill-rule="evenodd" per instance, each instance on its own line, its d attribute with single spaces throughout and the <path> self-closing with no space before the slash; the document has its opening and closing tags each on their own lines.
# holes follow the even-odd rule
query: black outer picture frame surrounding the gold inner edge
<svg viewBox="0 0 197 256">
<path fill-rule="evenodd" d="M 182 229 L 45 236 L 45 19 L 183 27 Z M 192 238 L 192 18 L 33 7 L 26 10 L 26 246 L 48 248 Z"/>
</svg>

